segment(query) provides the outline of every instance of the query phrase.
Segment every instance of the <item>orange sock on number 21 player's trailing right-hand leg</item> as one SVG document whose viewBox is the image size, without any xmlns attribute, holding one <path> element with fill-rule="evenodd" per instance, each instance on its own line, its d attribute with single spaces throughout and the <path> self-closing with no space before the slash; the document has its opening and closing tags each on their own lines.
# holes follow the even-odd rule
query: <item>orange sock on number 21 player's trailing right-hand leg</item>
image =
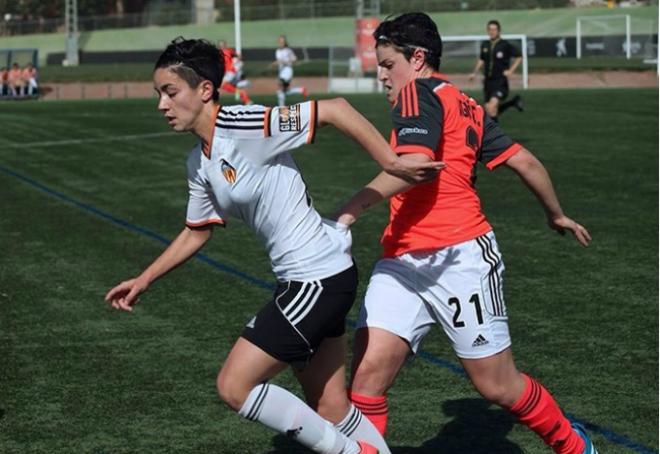
<svg viewBox="0 0 660 454">
<path fill-rule="evenodd" d="M 582 454 L 584 441 L 573 430 L 547 389 L 522 374 L 525 390 L 509 411 L 536 432 L 557 454 Z"/>
</svg>

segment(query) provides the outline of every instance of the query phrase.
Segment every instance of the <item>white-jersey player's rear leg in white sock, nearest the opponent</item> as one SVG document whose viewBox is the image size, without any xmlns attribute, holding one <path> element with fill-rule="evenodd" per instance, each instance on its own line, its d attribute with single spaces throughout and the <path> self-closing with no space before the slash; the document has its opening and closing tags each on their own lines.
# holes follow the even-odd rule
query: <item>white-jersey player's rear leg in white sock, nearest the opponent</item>
<svg viewBox="0 0 660 454">
<path fill-rule="evenodd" d="M 363 440 L 382 454 L 390 452 L 376 427 L 348 399 L 346 393 L 346 337 L 326 338 L 304 370 L 294 373 L 305 400 L 324 419 L 351 440 Z"/>
</svg>

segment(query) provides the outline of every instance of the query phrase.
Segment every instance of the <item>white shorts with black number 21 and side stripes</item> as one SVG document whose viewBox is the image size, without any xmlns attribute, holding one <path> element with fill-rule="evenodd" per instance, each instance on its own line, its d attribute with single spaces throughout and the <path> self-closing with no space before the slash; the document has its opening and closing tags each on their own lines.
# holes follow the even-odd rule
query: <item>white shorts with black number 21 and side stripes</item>
<svg viewBox="0 0 660 454">
<path fill-rule="evenodd" d="M 511 345 L 504 264 L 495 234 L 436 251 L 382 259 L 374 268 L 358 328 L 382 328 L 413 353 L 440 323 L 459 358 L 486 358 Z"/>
</svg>

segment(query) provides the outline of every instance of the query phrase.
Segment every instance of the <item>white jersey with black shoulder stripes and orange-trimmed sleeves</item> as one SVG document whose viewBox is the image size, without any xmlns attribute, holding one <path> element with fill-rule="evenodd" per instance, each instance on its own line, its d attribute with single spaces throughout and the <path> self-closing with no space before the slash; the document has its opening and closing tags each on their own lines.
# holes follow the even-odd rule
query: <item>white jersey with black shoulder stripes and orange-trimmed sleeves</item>
<svg viewBox="0 0 660 454">
<path fill-rule="evenodd" d="M 241 219 L 264 243 L 282 281 L 323 279 L 349 268 L 350 232 L 312 207 L 287 152 L 314 140 L 316 102 L 219 109 L 212 143 L 188 157 L 186 225 Z"/>
</svg>

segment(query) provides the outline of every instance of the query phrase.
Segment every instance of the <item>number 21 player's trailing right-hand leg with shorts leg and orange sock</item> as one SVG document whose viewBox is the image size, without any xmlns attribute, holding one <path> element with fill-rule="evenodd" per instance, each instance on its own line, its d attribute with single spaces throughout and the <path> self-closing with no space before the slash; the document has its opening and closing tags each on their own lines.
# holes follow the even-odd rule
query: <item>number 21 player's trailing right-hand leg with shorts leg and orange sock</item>
<svg viewBox="0 0 660 454">
<path fill-rule="evenodd" d="M 438 270 L 442 285 L 428 299 L 477 391 L 509 410 L 555 452 L 582 454 L 584 442 L 550 393 L 516 369 L 502 285 L 504 265 L 493 233 L 447 252 L 460 265 Z"/>
</svg>

